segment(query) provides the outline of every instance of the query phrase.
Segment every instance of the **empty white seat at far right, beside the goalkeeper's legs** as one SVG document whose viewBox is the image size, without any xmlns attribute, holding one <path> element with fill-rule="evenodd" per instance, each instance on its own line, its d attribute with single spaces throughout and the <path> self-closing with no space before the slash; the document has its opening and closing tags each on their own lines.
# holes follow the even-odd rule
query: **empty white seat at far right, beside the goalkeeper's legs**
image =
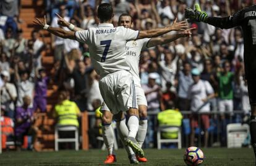
<svg viewBox="0 0 256 166">
<path fill-rule="evenodd" d="M 228 148 L 242 147 L 245 138 L 249 134 L 249 125 L 241 123 L 230 123 L 227 125 Z"/>
</svg>

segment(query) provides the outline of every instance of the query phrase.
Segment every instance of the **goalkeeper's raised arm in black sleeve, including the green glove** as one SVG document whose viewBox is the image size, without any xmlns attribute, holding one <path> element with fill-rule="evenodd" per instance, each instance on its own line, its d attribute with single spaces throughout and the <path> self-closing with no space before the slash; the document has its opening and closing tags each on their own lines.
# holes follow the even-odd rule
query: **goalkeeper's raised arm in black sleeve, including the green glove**
<svg viewBox="0 0 256 166">
<path fill-rule="evenodd" d="M 241 25 L 243 10 L 239 10 L 229 17 L 208 17 L 208 14 L 195 4 L 195 10 L 186 7 L 185 17 L 191 21 L 205 22 L 221 29 L 233 28 Z"/>
</svg>

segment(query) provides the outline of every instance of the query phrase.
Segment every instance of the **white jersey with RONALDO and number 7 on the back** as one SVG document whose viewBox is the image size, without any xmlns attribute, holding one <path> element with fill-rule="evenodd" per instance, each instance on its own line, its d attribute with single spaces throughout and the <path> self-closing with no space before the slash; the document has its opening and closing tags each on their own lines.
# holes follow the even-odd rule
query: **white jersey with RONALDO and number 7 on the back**
<svg viewBox="0 0 256 166">
<path fill-rule="evenodd" d="M 126 62 L 126 43 L 138 35 L 139 31 L 114 28 L 112 23 L 100 23 L 96 28 L 75 32 L 77 41 L 88 44 L 93 67 L 101 77 L 119 70 L 130 70 Z"/>
</svg>

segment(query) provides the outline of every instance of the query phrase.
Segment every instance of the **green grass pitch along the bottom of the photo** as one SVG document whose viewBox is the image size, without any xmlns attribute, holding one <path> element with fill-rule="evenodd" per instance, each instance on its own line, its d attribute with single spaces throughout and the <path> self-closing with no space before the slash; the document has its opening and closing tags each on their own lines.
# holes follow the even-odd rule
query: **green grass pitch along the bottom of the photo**
<svg viewBox="0 0 256 166">
<path fill-rule="evenodd" d="M 183 154 L 185 149 L 146 149 L 145 155 L 148 158 L 146 164 L 139 165 L 185 165 Z M 211 148 L 202 149 L 205 159 L 202 165 L 231 165 L 231 166 L 250 166 L 255 165 L 254 152 L 252 149 L 226 149 Z M 0 154 L 0 165 L 36 165 L 36 166 L 82 166 L 82 165 L 104 165 L 106 151 L 59 151 L 59 152 L 3 152 Z M 116 151 L 117 162 L 111 165 L 130 165 L 124 149 Z"/>
</svg>

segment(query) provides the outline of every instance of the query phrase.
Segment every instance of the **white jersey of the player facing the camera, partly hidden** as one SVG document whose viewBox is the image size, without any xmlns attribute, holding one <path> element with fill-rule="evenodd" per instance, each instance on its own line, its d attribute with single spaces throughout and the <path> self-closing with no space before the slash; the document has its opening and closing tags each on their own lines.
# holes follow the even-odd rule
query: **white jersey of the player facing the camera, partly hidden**
<svg viewBox="0 0 256 166">
<path fill-rule="evenodd" d="M 139 62 L 140 52 L 147 47 L 150 38 L 137 39 L 126 43 L 126 60 L 130 66 L 130 73 L 134 77 L 134 84 L 140 85 Z"/>
</svg>

